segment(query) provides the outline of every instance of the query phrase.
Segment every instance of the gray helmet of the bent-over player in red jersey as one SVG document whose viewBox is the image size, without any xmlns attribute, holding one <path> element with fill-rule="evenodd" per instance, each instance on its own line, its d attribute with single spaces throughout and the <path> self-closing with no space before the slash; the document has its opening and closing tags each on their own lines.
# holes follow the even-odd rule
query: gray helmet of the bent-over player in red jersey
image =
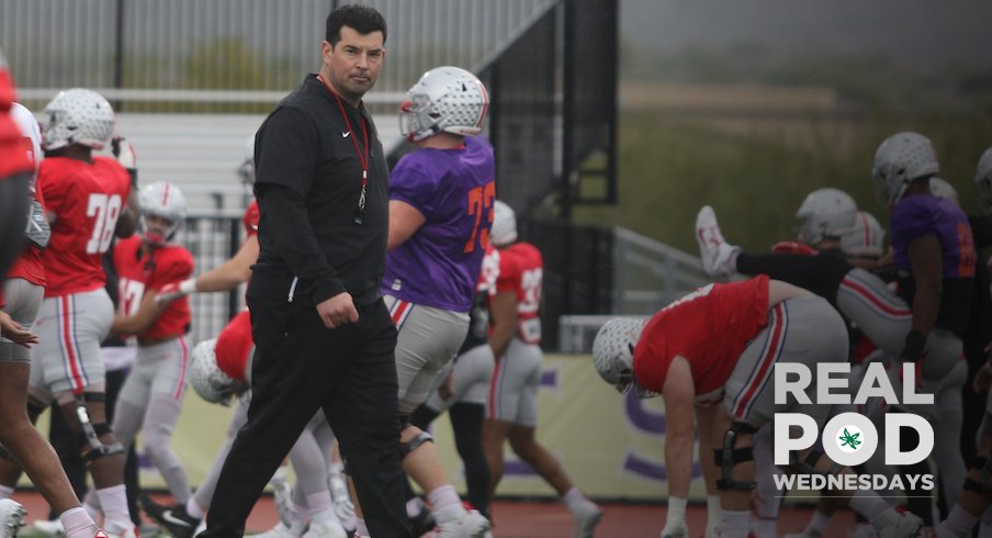
<svg viewBox="0 0 992 538">
<path fill-rule="evenodd" d="M 593 340 L 596 371 L 620 392 L 627 392 L 634 384 L 634 347 L 646 323 L 646 320 L 615 317 L 599 327 Z"/>
</svg>

